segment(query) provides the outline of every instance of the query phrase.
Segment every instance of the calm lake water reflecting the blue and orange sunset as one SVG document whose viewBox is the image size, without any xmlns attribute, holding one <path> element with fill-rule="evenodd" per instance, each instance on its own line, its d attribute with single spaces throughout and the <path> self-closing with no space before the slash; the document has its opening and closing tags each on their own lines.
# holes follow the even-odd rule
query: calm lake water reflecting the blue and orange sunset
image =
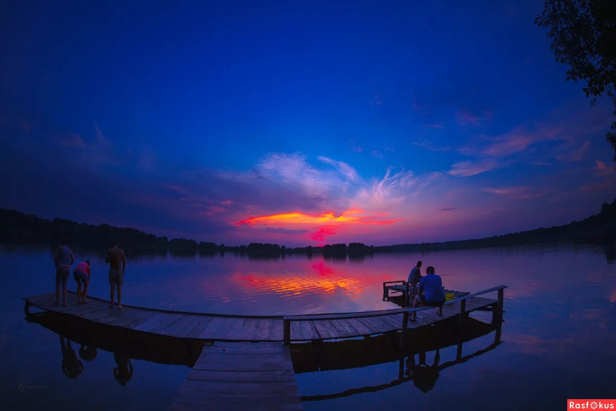
<svg viewBox="0 0 616 411">
<path fill-rule="evenodd" d="M 108 298 L 104 255 L 75 254 L 92 262 L 90 294 Z M 63 372 L 60 336 L 26 322 L 21 300 L 54 290 L 51 256 L 49 247 L 0 246 L 0 394 L 8 409 L 166 409 L 188 374 L 185 365 L 131 359 L 126 381 L 116 378 L 114 368 L 128 359 L 99 348 L 94 360 L 81 359 L 76 378 L 67 378 L 72 374 Z M 612 254 L 594 246 L 375 254 L 360 260 L 128 253 L 123 299 L 230 314 L 386 309 L 395 306 L 382 301 L 382 283 L 405 279 L 418 259 L 436 267 L 447 288 L 508 285 L 502 343 L 482 352 L 493 343 L 493 333 L 465 343 L 464 355 L 480 354 L 441 370 L 426 393 L 410 381 L 387 386 L 399 377 L 395 361 L 298 373 L 301 395 L 317 400 L 305 401 L 304 409 L 557 410 L 565 409 L 567 398 L 616 397 L 616 266 Z M 75 289 L 72 275 L 69 287 Z M 78 352 L 79 345 L 73 348 Z M 435 354 L 426 353 L 427 364 Z M 439 356 L 439 364 L 455 360 L 456 346 L 441 349 Z M 345 392 L 356 393 L 337 396 Z"/>
</svg>

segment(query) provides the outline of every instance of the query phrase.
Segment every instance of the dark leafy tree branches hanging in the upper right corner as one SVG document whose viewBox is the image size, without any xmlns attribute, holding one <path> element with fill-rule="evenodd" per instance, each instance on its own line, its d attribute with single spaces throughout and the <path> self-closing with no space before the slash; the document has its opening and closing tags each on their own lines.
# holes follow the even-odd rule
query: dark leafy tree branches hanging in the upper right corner
<svg viewBox="0 0 616 411">
<path fill-rule="evenodd" d="M 609 96 L 616 116 L 616 1 L 546 0 L 535 23 L 549 29 L 556 61 L 570 67 L 567 80 L 586 81 L 583 91 L 593 105 Z M 606 140 L 616 162 L 616 121 Z"/>
</svg>

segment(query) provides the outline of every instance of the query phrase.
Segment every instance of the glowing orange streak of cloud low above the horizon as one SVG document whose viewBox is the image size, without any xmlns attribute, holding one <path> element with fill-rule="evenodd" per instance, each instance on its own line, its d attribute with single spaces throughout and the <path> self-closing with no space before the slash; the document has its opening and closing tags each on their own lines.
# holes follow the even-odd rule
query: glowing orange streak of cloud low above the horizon
<svg viewBox="0 0 616 411">
<path fill-rule="evenodd" d="M 243 219 L 240 222 L 235 223 L 236 226 L 254 226 L 256 224 L 262 224 L 264 226 L 278 226 L 280 224 L 299 224 L 306 226 L 320 226 L 323 224 L 393 224 L 400 219 L 381 219 L 382 214 L 378 216 L 365 215 L 366 212 L 359 208 L 344 211 L 338 217 L 328 211 L 326 213 L 318 214 L 318 216 L 311 216 L 310 214 L 302 213 L 301 211 L 292 211 L 291 213 L 270 214 L 269 216 L 257 216 Z"/>
</svg>

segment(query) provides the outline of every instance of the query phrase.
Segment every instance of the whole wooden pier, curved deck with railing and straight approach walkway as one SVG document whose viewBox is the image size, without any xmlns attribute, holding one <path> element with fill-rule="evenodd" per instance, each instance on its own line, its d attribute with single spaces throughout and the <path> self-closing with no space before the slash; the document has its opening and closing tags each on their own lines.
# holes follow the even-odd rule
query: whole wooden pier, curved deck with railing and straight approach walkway
<svg viewBox="0 0 616 411">
<path fill-rule="evenodd" d="M 111 309 L 108 301 L 89 298 L 88 304 L 68 307 L 54 304 L 55 295 L 24 298 L 30 307 L 68 316 L 75 322 L 158 335 L 204 345 L 187 381 L 172 403 L 180 409 L 301 410 L 288 345 L 292 341 L 320 341 L 399 333 L 399 346 L 409 330 L 428 327 L 457 317 L 464 328 L 472 311 L 491 311 L 492 324 L 500 325 L 505 285 L 445 302 L 440 307 L 397 308 L 381 311 L 311 315 L 222 315 L 124 306 Z M 497 299 L 480 297 L 498 293 Z M 70 301 L 75 301 L 71 293 Z M 409 322 L 411 312 L 417 313 Z M 500 327 L 497 330 L 500 338 Z M 282 344 L 281 344 L 282 343 Z"/>
</svg>

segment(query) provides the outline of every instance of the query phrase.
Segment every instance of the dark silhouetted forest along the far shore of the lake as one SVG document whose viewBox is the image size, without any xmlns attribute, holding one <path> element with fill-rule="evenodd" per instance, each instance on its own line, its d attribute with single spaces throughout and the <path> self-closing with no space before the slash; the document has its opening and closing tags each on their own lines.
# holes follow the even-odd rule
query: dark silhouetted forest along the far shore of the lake
<svg viewBox="0 0 616 411">
<path fill-rule="evenodd" d="M 55 218 L 52 221 L 15 210 L 0 208 L 0 241 L 26 240 L 28 242 L 59 243 L 67 238 L 73 245 L 84 248 L 105 248 L 111 241 L 124 248 L 171 251 L 174 253 L 214 254 L 234 252 L 256 257 L 277 257 L 285 254 L 323 253 L 325 256 L 360 257 L 373 253 L 455 250 L 485 248 L 537 243 L 614 243 L 616 242 L 616 200 L 604 203 L 601 212 L 582 221 L 573 221 L 565 226 L 555 226 L 495 235 L 494 237 L 442 243 L 415 243 L 389 246 L 367 246 L 363 243 L 333 244 L 322 247 L 306 246 L 288 248 L 278 244 L 250 243 L 248 246 L 216 245 L 212 242 L 196 242 L 187 238 L 158 237 L 131 228 L 100 224 L 78 223 Z"/>
</svg>

